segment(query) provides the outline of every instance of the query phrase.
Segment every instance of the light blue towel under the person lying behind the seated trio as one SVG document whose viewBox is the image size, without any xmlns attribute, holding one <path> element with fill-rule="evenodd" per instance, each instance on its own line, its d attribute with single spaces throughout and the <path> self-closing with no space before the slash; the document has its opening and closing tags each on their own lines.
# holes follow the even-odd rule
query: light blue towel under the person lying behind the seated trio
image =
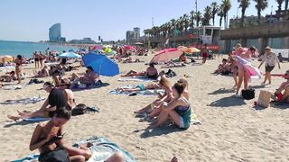
<svg viewBox="0 0 289 162">
<path fill-rule="evenodd" d="M 135 88 L 135 85 L 126 85 L 122 88 Z M 123 92 L 123 91 L 117 91 L 116 89 L 109 92 L 109 94 L 141 94 L 141 95 L 154 95 L 154 94 L 163 94 L 163 89 L 154 89 L 154 90 L 144 90 L 144 91 L 135 91 L 135 92 Z"/>
</svg>

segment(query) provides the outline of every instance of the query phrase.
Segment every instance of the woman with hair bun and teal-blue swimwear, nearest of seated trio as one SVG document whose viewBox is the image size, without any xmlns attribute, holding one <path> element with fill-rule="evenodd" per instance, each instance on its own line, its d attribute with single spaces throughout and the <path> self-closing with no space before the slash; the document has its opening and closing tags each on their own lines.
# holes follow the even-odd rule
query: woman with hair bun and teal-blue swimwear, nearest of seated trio
<svg viewBox="0 0 289 162">
<path fill-rule="evenodd" d="M 163 103 L 162 112 L 154 121 L 152 127 L 161 127 L 172 119 L 173 123 L 181 129 L 188 129 L 191 125 L 191 106 L 183 96 L 185 84 L 176 83 L 172 86 L 173 99 L 169 103 Z"/>
</svg>

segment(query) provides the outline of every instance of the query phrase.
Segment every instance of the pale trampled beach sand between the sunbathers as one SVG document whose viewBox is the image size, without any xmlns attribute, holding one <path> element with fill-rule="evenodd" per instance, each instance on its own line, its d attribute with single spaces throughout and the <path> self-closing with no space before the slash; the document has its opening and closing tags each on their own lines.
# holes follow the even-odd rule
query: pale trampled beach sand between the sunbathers
<svg viewBox="0 0 289 162">
<path fill-rule="evenodd" d="M 144 58 L 146 61 L 151 57 Z M 200 60 L 198 60 L 200 61 Z M 146 130 L 148 122 L 140 122 L 133 112 L 154 101 L 155 96 L 127 96 L 108 94 L 118 86 L 135 85 L 135 82 L 118 82 L 119 76 L 102 76 L 110 85 L 98 89 L 75 92 L 77 103 L 98 106 L 99 113 L 72 117 L 65 125 L 65 140 L 72 144 L 79 139 L 102 136 L 125 148 L 137 161 L 170 161 L 173 156 L 180 161 L 289 161 L 289 106 L 271 106 L 256 110 L 253 103 L 261 89 L 275 90 L 283 81 L 274 77 L 271 87 L 260 87 L 262 79 L 253 79 L 256 99 L 244 101 L 234 98 L 233 78 L 214 76 L 210 73 L 219 65 L 221 58 L 209 60 L 204 66 L 177 67 L 173 70 L 189 78 L 190 103 L 201 124 L 189 130 L 161 128 Z M 259 62 L 254 61 L 254 65 Z M 289 63 L 281 64 L 273 73 L 284 73 Z M 28 67 L 33 67 L 29 65 Z M 28 73 L 32 69 L 27 69 Z M 144 63 L 120 64 L 122 72 L 130 69 L 144 70 Z M 160 67 L 157 67 L 160 69 Z M 262 67 L 263 69 L 264 67 Z M 167 69 L 166 69 L 167 70 Z M 81 68 L 79 72 L 83 72 Z M 176 78 L 173 78 L 174 82 Z M 51 77 L 43 80 L 51 80 Z M 28 83 L 28 79 L 24 83 Z M 0 90 L 0 101 L 32 96 L 47 96 L 37 90 L 42 85 L 28 85 L 20 90 Z M 0 105 L 0 161 L 8 161 L 38 153 L 29 150 L 29 142 L 37 123 L 21 124 L 9 121 L 7 114 L 16 110 L 33 111 L 35 104 Z"/>
</svg>

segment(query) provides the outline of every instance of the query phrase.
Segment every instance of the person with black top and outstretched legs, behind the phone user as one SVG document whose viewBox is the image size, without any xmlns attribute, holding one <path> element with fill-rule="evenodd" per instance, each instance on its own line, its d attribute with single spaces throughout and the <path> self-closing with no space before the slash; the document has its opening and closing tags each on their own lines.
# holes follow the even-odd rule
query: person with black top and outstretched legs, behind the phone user
<svg viewBox="0 0 289 162">
<path fill-rule="evenodd" d="M 67 88 L 63 86 L 62 88 Z M 70 89 L 62 89 L 54 87 L 50 82 L 45 82 L 43 90 L 50 93 L 48 98 L 42 104 L 42 107 L 34 112 L 19 112 L 18 116 L 7 115 L 11 120 L 29 119 L 33 117 L 51 117 L 57 107 L 68 104 L 71 108 L 76 106 L 74 94 Z"/>
</svg>

